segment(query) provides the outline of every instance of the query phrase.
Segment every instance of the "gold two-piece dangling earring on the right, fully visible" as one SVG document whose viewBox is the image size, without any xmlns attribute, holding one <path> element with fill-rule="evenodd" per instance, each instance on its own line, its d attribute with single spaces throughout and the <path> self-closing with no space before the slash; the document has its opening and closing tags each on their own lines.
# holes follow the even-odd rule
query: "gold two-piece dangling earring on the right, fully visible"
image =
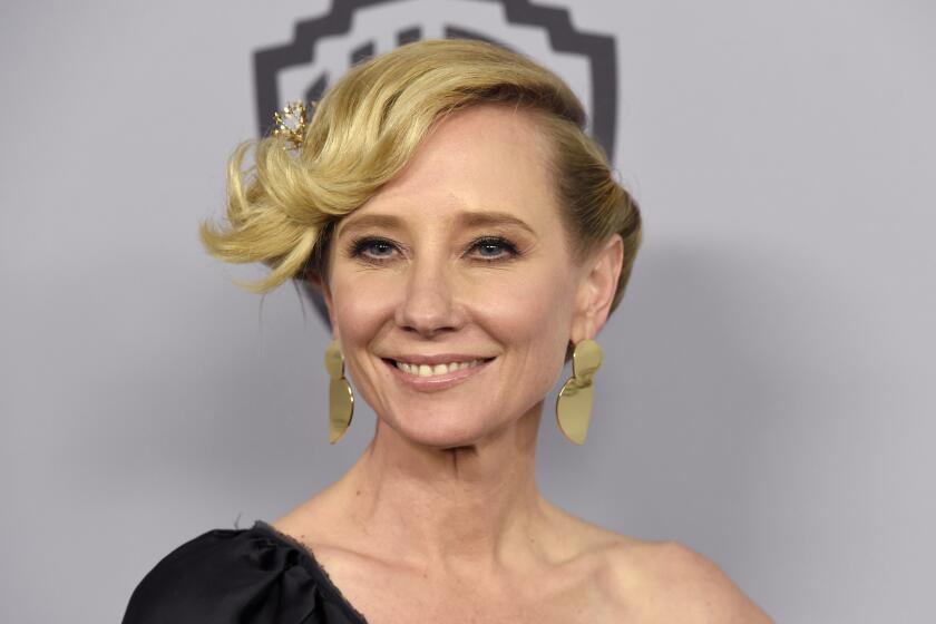
<svg viewBox="0 0 936 624">
<path fill-rule="evenodd" d="M 563 435 L 576 445 L 584 445 L 585 436 L 588 435 L 595 398 L 592 378 L 601 365 L 601 345 L 588 338 L 579 341 L 572 354 L 572 377 L 556 397 L 556 422 Z"/>
</svg>

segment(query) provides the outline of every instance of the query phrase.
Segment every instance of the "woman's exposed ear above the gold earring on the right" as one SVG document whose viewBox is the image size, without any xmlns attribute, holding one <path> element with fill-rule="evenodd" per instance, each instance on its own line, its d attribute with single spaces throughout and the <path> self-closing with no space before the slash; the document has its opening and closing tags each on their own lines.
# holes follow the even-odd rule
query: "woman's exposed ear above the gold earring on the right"
<svg viewBox="0 0 936 624">
<path fill-rule="evenodd" d="M 572 319 L 571 339 L 574 344 L 595 338 L 607 321 L 623 260 L 624 240 L 620 234 L 613 234 L 583 265 Z"/>
</svg>

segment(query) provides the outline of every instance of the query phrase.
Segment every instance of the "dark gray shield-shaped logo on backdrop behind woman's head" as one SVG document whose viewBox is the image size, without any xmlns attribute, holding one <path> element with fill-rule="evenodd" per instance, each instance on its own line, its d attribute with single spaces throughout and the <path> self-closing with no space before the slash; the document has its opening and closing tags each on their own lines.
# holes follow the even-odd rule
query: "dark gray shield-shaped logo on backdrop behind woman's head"
<svg viewBox="0 0 936 624">
<path fill-rule="evenodd" d="M 289 101 L 314 101 L 365 58 L 421 39 L 480 39 L 521 52 L 558 74 L 588 113 L 588 131 L 614 158 L 617 57 L 614 38 L 579 32 L 568 10 L 528 0 L 333 0 L 296 22 L 293 38 L 254 52 L 257 130 Z"/>
</svg>

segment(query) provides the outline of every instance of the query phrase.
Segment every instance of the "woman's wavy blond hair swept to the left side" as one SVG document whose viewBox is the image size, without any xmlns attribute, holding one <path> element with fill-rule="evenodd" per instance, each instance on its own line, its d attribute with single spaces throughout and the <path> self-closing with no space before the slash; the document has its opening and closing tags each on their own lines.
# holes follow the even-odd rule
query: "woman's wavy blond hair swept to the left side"
<svg viewBox="0 0 936 624">
<path fill-rule="evenodd" d="M 614 310 L 641 243 L 637 205 L 585 134 L 585 111 L 568 86 L 480 41 L 419 41 L 355 66 L 318 103 L 298 152 L 275 136 L 241 144 L 228 163 L 228 223 L 202 224 L 205 247 L 226 262 L 270 266 L 263 280 L 241 283 L 254 292 L 310 270 L 324 279 L 334 223 L 400 173 L 441 117 L 481 104 L 535 114 L 553 146 L 555 192 L 576 257 L 614 233 L 623 237 Z M 254 166 L 244 169 L 252 146 Z"/>
</svg>

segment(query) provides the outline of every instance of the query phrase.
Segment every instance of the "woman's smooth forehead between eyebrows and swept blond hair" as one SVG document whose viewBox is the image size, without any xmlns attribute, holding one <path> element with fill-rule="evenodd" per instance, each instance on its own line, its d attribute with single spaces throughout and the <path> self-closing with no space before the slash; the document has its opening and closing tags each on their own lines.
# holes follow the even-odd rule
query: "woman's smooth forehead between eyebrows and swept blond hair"
<svg viewBox="0 0 936 624">
<path fill-rule="evenodd" d="M 373 212 L 432 218 L 490 211 L 544 228 L 557 216 L 549 158 L 534 114 L 494 105 L 458 110 L 433 126 L 396 178 L 342 221 Z"/>
</svg>

